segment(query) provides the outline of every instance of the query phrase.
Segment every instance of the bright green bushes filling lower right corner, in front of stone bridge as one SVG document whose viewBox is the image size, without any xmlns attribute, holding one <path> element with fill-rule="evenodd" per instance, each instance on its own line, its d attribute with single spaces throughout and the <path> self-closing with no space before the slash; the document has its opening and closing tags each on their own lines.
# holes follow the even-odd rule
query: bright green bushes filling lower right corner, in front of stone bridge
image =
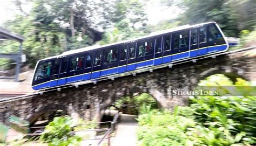
<svg viewBox="0 0 256 146">
<path fill-rule="evenodd" d="M 199 85 L 251 86 L 251 82 L 237 79 L 233 84 L 217 74 Z M 247 96 L 250 90 L 240 92 L 244 96 L 197 96 L 191 98 L 190 107 L 175 107 L 173 112 L 148 108 L 138 117 L 139 145 L 255 144 L 256 98 Z"/>
</svg>

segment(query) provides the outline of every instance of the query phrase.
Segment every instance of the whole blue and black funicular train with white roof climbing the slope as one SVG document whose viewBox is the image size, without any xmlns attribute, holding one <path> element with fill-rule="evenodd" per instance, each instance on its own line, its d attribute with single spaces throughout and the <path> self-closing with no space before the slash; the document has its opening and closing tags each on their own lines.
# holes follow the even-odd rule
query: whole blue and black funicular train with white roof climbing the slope
<svg viewBox="0 0 256 146">
<path fill-rule="evenodd" d="M 39 60 L 35 90 L 224 52 L 228 43 L 215 22 L 184 25 L 118 43 L 90 46 Z"/>
</svg>

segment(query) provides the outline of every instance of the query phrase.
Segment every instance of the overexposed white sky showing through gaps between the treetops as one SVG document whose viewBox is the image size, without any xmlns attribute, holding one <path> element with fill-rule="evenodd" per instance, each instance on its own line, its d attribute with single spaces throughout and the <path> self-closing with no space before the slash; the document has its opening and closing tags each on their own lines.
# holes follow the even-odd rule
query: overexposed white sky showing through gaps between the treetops
<svg viewBox="0 0 256 146">
<path fill-rule="evenodd" d="M 26 2 L 26 0 L 21 1 Z M 31 8 L 31 3 L 23 6 L 23 10 L 26 12 L 29 12 Z M 167 20 L 177 17 L 180 13 L 180 10 L 175 6 L 166 8 L 161 6 L 159 1 L 150 0 L 147 2 L 146 13 L 147 18 L 149 19 L 149 23 L 154 25 L 157 24 L 160 20 Z M 16 14 L 17 11 L 15 10 L 15 5 L 11 3 L 11 0 L 0 0 L 0 25 L 8 19 L 14 19 Z"/>
</svg>

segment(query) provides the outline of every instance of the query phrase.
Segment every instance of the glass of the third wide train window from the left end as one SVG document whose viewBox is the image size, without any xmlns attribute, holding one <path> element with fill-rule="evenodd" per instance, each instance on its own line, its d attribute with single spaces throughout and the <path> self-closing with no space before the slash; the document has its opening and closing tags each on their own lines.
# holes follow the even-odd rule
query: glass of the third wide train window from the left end
<svg viewBox="0 0 256 146">
<path fill-rule="evenodd" d="M 117 62 L 118 58 L 118 50 L 117 48 L 107 48 L 104 51 L 104 65 L 111 64 L 113 62 Z"/>
</svg>

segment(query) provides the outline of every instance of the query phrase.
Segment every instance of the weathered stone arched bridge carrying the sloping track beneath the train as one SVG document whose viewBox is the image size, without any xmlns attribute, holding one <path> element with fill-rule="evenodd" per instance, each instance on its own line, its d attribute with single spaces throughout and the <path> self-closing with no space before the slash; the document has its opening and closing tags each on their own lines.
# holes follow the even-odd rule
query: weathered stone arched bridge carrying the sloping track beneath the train
<svg viewBox="0 0 256 146">
<path fill-rule="evenodd" d="M 191 90 L 197 87 L 200 80 L 216 73 L 225 74 L 232 80 L 239 77 L 256 81 L 256 58 L 244 55 L 247 51 L 190 61 L 174 65 L 172 68 L 165 67 L 135 76 L 97 82 L 96 85 L 88 84 L 58 92 L 1 101 L 0 121 L 8 123 L 8 117 L 14 114 L 34 123 L 37 117 L 57 109 L 69 115 L 77 113 L 76 115 L 85 120 L 99 121 L 111 103 L 133 93 L 149 93 L 160 107 L 166 109 L 187 105 L 188 97 L 172 96 L 171 89 Z"/>
</svg>

